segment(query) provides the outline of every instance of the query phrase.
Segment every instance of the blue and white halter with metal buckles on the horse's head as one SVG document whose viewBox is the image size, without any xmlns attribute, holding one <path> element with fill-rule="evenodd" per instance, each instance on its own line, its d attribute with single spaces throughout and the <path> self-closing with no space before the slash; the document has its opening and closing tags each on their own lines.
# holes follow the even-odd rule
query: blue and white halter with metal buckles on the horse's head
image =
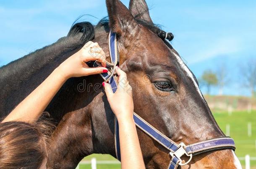
<svg viewBox="0 0 256 169">
<path fill-rule="evenodd" d="M 109 82 L 112 88 L 113 93 L 117 90 L 118 82 L 114 75 L 115 66 L 119 63 L 119 53 L 118 53 L 118 43 L 116 34 L 110 30 L 109 34 L 109 51 L 110 51 L 110 59 L 111 64 L 108 63 L 107 67 L 111 69 L 111 73 L 102 73 L 100 74 L 105 82 Z M 98 67 L 101 66 L 98 62 L 90 62 L 88 64 L 90 67 Z M 167 136 L 162 134 L 160 131 L 155 129 L 149 123 L 147 123 L 144 119 L 138 116 L 136 113 L 133 113 L 133 119 L 135 121 L 136 126 L 144 131 L 147 135 L 152 137 L 159 144 L 164 146 L 166 149 L 170 151 L 170 156 L 172 157 L 170 160 L 170 164 L 168 169 L 177 169 L 177 167 L 188 164 L 192 157 L 205 153 L 208 151 L 215 151 L 220 149 L 232 149 L 235 151 L 235 143 L 234 140 L 230 137 L 221 137 L 216 139 L 210 139 L 206 141 L 201 141 L 195 144 L 185 145 L 184 143 L 176 144 L 174 141 L 169 139 Z M 118 121 L 115 117 L 115 154 L 119 161 L 121 161 L 120 154 L 120 142 L 119 142 L 119 127 Z M 181 157 L 185 155 L 188 156 L 188 161 L 182 163 Z"/>
</svg>

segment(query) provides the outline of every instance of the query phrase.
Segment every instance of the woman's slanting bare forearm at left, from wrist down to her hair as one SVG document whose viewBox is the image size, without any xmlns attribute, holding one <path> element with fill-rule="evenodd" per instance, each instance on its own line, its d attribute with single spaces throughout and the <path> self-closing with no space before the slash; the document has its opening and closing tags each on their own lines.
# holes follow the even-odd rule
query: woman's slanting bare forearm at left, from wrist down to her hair
<svg viewBox="0 0 256 169">
<path fill-rule="evenodd" d="M 37 121 L 66 80 L 67 78 L 56 68 L 2 122 L 26 121 L 33 123 Z"/>
</svg>

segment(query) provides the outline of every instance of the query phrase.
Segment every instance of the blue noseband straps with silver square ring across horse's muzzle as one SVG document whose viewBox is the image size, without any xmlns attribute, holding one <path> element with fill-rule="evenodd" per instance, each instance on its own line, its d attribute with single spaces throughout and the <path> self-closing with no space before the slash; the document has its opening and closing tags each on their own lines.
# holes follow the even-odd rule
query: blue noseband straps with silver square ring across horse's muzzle
<svg viewBox="0 0 256 169">
<path fill-rule="evenodd" d="M 133 113 L 133 119 L 136 126 L 144 131 L 147 135 L 152 137 L 159 144 L 164 146 L 170 151 L 172 159 L 170 161 L 168 169 L 176 169 L 178 165 L 188 164 L 192 156 L 205 153 L 208 151 L 215 151 L 220 149 L 232 149 L 235 151 L 235 142 L 230 137 L 221 137 L 217 139 L 209 139 L 206 141 L 201 141 L 195 144 L 190 144 L 186 146 L 184 143 L 176 144 L 174 141 L 169 139 L 167 136 L 162 134 L 160 131 L 151 126 L 148 122 L 138 116 L 136 113 Z M 182 156 L 188 156 L 189 159 L 185 163 L 182 163 Z"/>
</svg>

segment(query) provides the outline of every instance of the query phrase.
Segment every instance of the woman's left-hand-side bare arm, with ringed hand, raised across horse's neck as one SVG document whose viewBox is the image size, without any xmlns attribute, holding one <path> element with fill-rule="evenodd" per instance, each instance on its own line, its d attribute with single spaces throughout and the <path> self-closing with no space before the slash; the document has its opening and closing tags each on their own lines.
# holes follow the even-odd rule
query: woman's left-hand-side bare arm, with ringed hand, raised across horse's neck
<svg viewBox="0 0 256 169">
<path fill-rule="evenodd" d="M 92 60 L 98 60 L 103 66 L 106 64 L 103 50 L 99 48 L 97 43 L 90 41 L 81 50 L 61 63 L 2 122 L 25 121 L 33 123 L 37 121 L 68 78 L 88 76 L 107 71 L 104 67 L 89 68 L 85 62 Z"/>
</svg>

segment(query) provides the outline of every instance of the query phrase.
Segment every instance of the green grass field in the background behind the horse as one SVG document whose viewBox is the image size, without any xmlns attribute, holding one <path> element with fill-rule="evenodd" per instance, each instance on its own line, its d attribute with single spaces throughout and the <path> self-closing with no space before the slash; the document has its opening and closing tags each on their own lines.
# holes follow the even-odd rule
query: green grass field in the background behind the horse
<svg viewBox="0 0 256 169">
<path fill-rule="evenodd" d="M 247 111 L 235 111 L 231 115 L 227 112 L 214 112 L 214 117 L 220 128 L 226 133 L 226 125 L 230 125 L 230 136 L 235 140 L 236 151 L 238 157 L 244 157 L 246 154 L 256 156 L 256 111 L 248 114 Z M 252 136 L 247 134 L 247 125 L 251 122 Z M 84 160 L 90 160 L 96 157 L 97 160 L 116 160 L 110 155 L 92 154 Z M 244 165 L 245 161 L 241 160 Z M 80 165 L 79 169 L 91 169 L 89 164 Z M 120 164 L 99 164 L 97 169 L 120 169 Z M 256 169 L 256 161 L 251 161 L 251 169 Z"/>
</svg>

